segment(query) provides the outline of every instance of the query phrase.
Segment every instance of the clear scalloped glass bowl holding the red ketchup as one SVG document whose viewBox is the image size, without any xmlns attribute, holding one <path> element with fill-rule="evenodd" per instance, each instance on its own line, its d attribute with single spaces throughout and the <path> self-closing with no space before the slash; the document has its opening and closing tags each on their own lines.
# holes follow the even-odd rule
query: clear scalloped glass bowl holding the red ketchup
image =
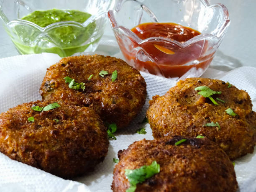
<svg viewBox="0 0 256 192">
<path fill-rule="evenodd" d="M 143 72 L 175 79 L 200 77 L 230 24 L 227 8 L 222 4 L 210 5 L 207 0 L 118 0 L 115 10 L 109 10 L 108 18 L 128 64 Z M 130 30 L 150 22 L 177 23 L 201 34 L 180 43 L 164 37 L 142 40 Z M 175 53 L 149 49 L 155 45 Z"/>
</svg>

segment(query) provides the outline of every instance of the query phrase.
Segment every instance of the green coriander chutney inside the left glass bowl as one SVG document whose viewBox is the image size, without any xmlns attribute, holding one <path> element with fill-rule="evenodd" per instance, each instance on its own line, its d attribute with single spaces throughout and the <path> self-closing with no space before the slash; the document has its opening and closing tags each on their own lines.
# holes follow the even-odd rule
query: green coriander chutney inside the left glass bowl
<svg viewBox="0 0 256 192">
<path fill-rule="evenodd" d="M 41 28 L 44 28 L 44 31 L 30 26 L 16 26 L 16 33 L 22 44 L 17 41 L 14 44 L 21 54 L 49 52 L 64 57 L 82 52 L 90 44 L 99 41 L 98 38 L 93 42 L 87 42 L 95 31 L 96 24 L 94 22 L 85 27 L 77 24 L 84 23 L 90 16 L 91 14 L 78 10 L 52 9 L 34 11 L 21 19 L 35 23 Z M 75 21 L 77 23 L 59 23 L 49 26 L 52 23 L 60 21 Z"/>
</svg>

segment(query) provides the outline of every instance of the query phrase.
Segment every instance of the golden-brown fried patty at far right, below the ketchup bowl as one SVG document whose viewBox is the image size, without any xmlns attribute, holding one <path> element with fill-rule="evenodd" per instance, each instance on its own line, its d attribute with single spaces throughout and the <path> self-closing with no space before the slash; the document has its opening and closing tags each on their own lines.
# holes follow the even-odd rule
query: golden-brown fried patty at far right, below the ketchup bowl
<svg viewBox="0 0 256 192">
<path fill-rule="evenodd" d="M 221 94 L 212 95 L 218 105 L 199 95 L 199 91 L 195 91 L 199 86 L 220 91 Z M 230 159 L 253 153 L 256 143 L 256 113 L 252 110 L 248 93 L 230 86 L 215 79 L 189 78 L 179 81 L 164 96 L 154 96 L 147 111 L 154 138 L 202 135 L 215 141 Z M 229 115 L 225 111 L 228 108 L 237 115 Z M 220 127 L 205 125 L 211 122 L 218 122 Z"/>
</svg>

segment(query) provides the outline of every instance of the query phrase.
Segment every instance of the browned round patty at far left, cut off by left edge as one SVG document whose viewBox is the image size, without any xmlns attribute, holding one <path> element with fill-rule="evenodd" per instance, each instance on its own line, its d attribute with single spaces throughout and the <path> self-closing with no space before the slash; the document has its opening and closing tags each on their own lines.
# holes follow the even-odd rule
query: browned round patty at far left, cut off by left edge
<svg viewBox="0 0 256 192">
<path fill-rule="evenodd" d="M 90 108 L 61 105 L 48 111 L 28 102 L 0 114 L 0 151 L 11 159 L 59 177 L 91 171 L 108 152 L 106 128 Z M 34 122 L 28 118 L 34 117 Z"/>
</svg>

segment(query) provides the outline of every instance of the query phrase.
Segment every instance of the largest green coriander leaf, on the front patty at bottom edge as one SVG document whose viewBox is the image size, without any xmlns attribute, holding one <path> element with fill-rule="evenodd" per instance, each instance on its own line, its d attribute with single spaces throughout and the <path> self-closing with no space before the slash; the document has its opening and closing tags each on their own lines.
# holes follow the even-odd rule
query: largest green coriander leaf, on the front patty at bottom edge
<svg viewBox="0 0 256 192">
<path fill-rule="evenodd" d="M 130 182 L 130 188 L 126 192 L 134 192 L 138 183 L 144 182 L 149 177 L 160 172 L 160 165 L 153 161 L 151 165 L 143 165 L 138 169 L 125 169 L 125 175 Z"/>
</svg>

